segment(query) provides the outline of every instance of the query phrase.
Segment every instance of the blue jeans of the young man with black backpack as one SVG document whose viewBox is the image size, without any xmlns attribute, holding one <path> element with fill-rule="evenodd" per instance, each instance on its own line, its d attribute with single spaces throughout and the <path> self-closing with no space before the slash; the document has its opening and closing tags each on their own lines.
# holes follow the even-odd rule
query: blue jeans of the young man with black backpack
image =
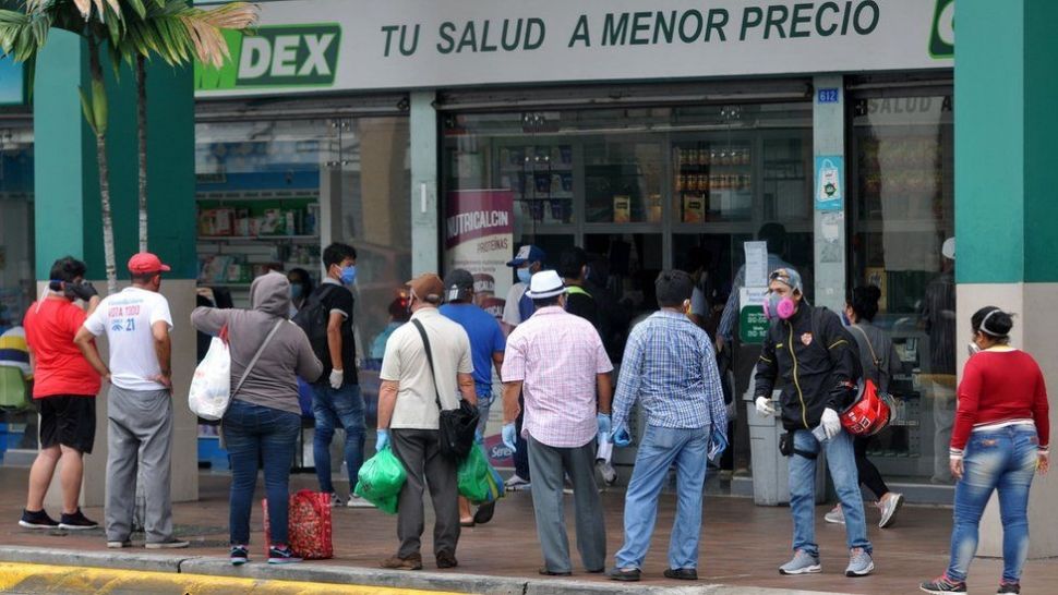
<svg viewBox="0 0 1058 595">
<path fill-rule="evenodd" d="M 346 430 L 346 470 L 349 471 L 349 493 L 357 488 L 357 475 L 363 464 L 363 397 L 360 385 L 342 385 L 335 390 L 329 384 L 312 385 L 312 414 L 316 418 L 316 432 L 312 440 L 312 460 L 320 479 L 320 491 L 330 494 L 330 440 L 334 429 Z"/>
</svg>

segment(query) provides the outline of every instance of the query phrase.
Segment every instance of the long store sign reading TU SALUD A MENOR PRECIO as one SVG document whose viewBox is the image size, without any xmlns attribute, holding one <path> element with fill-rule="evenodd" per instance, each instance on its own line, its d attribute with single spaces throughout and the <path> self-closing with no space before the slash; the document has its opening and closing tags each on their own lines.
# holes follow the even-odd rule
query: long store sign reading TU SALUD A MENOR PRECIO
<svg viewBox="0 0 1058 595">
<path fill-rule="evenodd" d="M 952 65 L 953 0 L 289 0 L 200 95 Z M 320 21 L 336 23 L 320 25 Z M 255 41 L 251 39 L 260 38 Z M 281 38 L 281 39 L 280 39 Z M 249 46 L 248 46 L 249 44 Z M 248 54 L 252 52 L 252 54 Z"/>
</svg>

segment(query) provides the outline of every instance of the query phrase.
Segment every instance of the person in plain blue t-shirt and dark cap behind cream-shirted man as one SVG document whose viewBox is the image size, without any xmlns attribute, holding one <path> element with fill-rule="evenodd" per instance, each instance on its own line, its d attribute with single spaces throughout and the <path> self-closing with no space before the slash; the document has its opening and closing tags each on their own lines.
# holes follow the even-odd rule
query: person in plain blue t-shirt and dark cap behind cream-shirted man
<svg viewBox="0 0 1058 595">
<path fill-rule="evenodd" d="M 492 406 L 492 368 L 495 367 L 496 374 L 500 374 L 507 342 L 496 318 L 474 304 L 473 275 L 470 271 L 457 268 L 445 277 L 445 301 L 447 303 L 441 306 L 441 314 L 461 326 L 470 337 L 474 392 L 478 394 L 480 414 L 477 438 L 480 444 Z M 488 523 L 494 510 L 495 502 L 488 502 L 471 517 L 470 502 L 459 497 L 459 523 L 464 526 Z"/>
</svg>

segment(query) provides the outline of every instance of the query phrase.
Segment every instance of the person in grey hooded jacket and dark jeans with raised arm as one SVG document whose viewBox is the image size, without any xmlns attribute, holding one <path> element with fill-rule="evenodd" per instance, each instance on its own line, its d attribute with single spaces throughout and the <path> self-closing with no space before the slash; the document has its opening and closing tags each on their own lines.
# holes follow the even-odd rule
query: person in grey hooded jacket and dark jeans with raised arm
<svg viewBox="0 0 1058 595">
<path fill-rule="evenodd" d="M 268 562 L 296 562 L 300 559 L 288 546 L 287 521 L 290 462 L 301 430 L 297 377 L 314 381 L 323 373 L 323 364 L 313 354 L 304 331 L 287 320 L 290 282 L 285 275 L 268 272 L 254 279 L 250 286 L 250 303 L 252 309 L 197 307 L 191 313 L 191 324 L 203 332 L 216 336 L 228 327 L 232 390 L 275 329 L 242 387 L 232 394 L 221 422 L 231 458 L 231 563 L 248 561 L 259 457 L 264 467 L 272 521 Z"/>
</svg>

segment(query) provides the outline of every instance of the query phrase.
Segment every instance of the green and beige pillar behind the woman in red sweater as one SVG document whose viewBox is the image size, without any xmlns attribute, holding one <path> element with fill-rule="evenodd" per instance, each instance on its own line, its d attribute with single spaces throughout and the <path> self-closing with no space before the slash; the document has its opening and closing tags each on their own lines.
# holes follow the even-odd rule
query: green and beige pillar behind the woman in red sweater
<svg viewBox="0 0 1058 595">
<path fill-rule="evenodd" d="M 955 10 L 957 344 L 970 341 L 978 308 L 1012 311 L 1012 344 L 1032 353 L 1055 387 L 1058 2 L 960 0 Z M 961 369 L 966 353 L 959 351 Z M 1058 406 L 1050 425 L 1058 427 Z M 1033 558 L 1058 556 L 1056 499 L 1058 482 L 1037 476 L 1030 496 Z M 1002 554 L 995 502 L 982 520 L 978 554 Z"/>
</svg>

